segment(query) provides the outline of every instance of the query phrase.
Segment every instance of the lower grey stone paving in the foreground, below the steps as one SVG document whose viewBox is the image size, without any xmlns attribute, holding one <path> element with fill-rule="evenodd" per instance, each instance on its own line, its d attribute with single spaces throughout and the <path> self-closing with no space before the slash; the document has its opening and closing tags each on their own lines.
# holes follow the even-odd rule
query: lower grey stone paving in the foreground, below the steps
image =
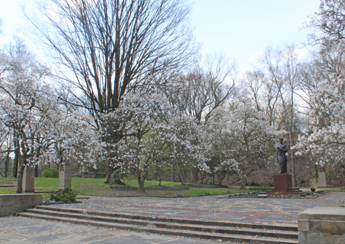
<svg viewBox="0 0 345 244">
<path fill-rule="evenodd" d="M 29 244 L 216 244 L 193 238 L 127 232 L 102 227 L 10 216 L 0 218 L 0 243 Z M 229 243 L 231 244 L 231 243 Z M 235 243 L 233 243 L 235 244 Z"/>
</svg>

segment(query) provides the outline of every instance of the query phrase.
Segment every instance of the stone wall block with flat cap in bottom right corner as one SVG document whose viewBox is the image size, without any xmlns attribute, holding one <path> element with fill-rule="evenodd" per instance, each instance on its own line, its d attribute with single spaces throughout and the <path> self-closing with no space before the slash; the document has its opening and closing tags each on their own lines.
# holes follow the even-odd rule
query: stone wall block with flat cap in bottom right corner
<svg viewBox="0 0 345 244">
<path fill-rule="evenodd" d="M 299 244 L 345 243 L 345 207 L 313 207 L 298 214 Z"/>
</svg>

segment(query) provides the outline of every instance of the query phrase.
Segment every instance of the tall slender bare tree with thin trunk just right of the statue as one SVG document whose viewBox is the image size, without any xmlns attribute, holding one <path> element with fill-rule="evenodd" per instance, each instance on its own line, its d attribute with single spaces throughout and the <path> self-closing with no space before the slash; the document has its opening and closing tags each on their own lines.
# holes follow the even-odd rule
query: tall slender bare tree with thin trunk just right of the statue
<svg viewBox="0 0 345 244">
<path fill-rule="evenodd" d="M 268 124 L 284 128 L 288 132 L 290 146 L 295 144 L 301 96 L 302 59 L 295 45 L 284 49 L 267 48 L 262 59 L 262 70 L 247 73 L 245 85 L 257 110 L 266 112 Z M 295 186 L 295 159 L 290 150 L 293 186 Z"/>
</svg>

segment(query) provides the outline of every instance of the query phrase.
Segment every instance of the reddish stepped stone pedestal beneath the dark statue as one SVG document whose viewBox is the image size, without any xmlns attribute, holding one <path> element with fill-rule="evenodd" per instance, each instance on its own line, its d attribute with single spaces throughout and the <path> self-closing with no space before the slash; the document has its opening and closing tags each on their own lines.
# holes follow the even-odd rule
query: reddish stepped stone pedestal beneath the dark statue
<svg viewBox="0 0 345 244">
<path fill-rule="evenodd" d="M 265 191 L 266 194 L 301 194 L 302 190 L 293 189 L 290 174 L 275 174 L 275 189 Z"/>
</svg>

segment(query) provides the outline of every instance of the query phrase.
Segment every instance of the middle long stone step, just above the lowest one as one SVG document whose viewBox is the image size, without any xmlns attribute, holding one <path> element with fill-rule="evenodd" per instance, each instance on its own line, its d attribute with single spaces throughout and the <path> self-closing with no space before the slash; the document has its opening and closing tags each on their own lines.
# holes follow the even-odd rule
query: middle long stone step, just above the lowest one
<svg viewBox="0 0 345 244">
<path fill-rule="evenodd" d="M 97 216 L 97 215 L 87 215 L 87 214 L 75 214 L 69 212 L 57 212 L 50 210 L 26 210 L 33 214 L 45 214 L 49 216 L 61 216 L 67 218 L 79 218 L 84 220 L 91 221 L 103 221 L 111 223 L 122 223 L 130 225 L 151 225 L 152 227 L 166 228 L 172 230 L 191 230 L 197 232 L 211 232 L 211 233 L 220 233 L 220 234 L 238 234 L 246 236 L 262 236 L 262 237 L 272 237 L 272 238 L 290 238 L 298 239 L 297 232 L 286 232 L 277 230 L 259 230 L 259 229 L 244 229 L 238 227 L 219 227 L 219 226 L 208 226 L 208 225 L 190 225 L 190 224 L 181 224 L 181 223 L 167 223 L 161 221 L 147 221 L 141 219 L 133 218 L 114 218 L 109 216 Z"/>
</svg>

